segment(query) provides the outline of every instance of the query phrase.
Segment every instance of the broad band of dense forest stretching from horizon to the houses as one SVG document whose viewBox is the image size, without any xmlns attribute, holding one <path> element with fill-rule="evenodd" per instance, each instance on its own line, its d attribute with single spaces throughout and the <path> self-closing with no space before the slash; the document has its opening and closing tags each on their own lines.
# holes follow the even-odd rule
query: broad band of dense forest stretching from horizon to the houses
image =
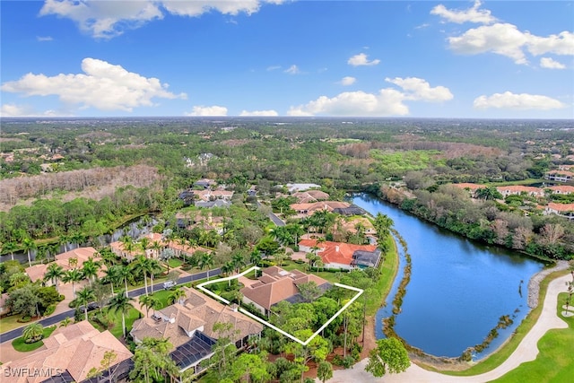
<svg viewBox="0 0 574 383">
<path fill-rule="evenodd" d="M 259 196 L 289 182 L 368 190 L 469 238 L 571 257 L 572 222 L 549 199 L 481 203 L 451 183 L 542 184 L 574 163 L 569 120 L 3 119 L 0 242 L 80 232 L 130 214 L 172 214 L 198 178 Z M 568 184 L 565 184 L 568 185 Z M 558 202 L 570 203 L 567 196 Z M 527 208 L 526 208 L 527 207 Z"/>
</svg>

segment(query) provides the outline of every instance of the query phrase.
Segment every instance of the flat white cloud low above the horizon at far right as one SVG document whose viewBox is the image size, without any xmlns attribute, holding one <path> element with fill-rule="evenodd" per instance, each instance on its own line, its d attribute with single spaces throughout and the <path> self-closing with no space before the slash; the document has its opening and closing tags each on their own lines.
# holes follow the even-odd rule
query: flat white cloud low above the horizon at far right
<svg viewBox="0 0 574 383">
<path fill-rule="evenodd" d="M 504 93 L 494 93 L 491 96 L 480 96 L 474 99 L 473 106 L 475 109 L 518 109 L 518 110 L 550 110 L 561 109 L 565 105 L 559 101 L 547 96 L 537 94 L 520 93 L 515 94 L 511 91 Z"/>
</svg>

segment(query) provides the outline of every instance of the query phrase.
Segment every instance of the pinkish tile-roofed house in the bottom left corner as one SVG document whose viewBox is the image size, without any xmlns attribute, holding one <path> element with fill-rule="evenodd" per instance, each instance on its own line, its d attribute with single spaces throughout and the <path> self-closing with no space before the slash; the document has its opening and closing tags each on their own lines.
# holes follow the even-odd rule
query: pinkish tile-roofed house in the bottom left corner
<svg viewBox="0 0 574 383">
<path fill-rule="evenodd" d="M 86 320 L 58 327 L 43 342 L 44 347 L 23 358 L 4 362 L 0 366 L 2 382 L 80 382 L 88 378 L 92 369 L 100 370 L 106 352 L 116 353 L 116 365 L 133 356 L 108 330 L 100 333 Z"/>
</svg>

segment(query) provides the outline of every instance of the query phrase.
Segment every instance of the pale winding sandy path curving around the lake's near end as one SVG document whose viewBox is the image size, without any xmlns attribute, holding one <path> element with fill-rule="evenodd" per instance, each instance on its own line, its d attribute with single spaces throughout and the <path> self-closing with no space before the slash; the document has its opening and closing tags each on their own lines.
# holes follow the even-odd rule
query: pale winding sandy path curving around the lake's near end
<svg viewBox="0 0 574 383">
<path fill-rule="evenodd" d="M 416 364 L 411 364 L 406 371 L 401 374 L 387 374 L 384 378 L 374 378 L 369 372 L 365 371 L 367 360 L 363 359 L 357 363 L 351 370 L 335 370 L 333 379 L 327 380 L 329 383 L 368 383 L 368 382 L 387 382 L 387 383 L 483 383 L 493 379 L 500 378 L 510 370 L 514 370 L 525 361 L 534 361 L 538 354 L 538 340 L 552 328 L 566 328 L 566 322 L 556 316 L 556 304 L 558 294 L 566 292 L 566 282 L 570 281 L 572 276 L 570 274 L 561 276 L 553 280 L 546 292 L 544 298 L 543 310 L 530 332 L 525 336 L 517 349 L 509 356 L 509 359 L 504 361 L 499 367 L 481 375 L 474 377 L 451 377 L 448 375 L 439 374 L 423 370 Z"/>
</svg>

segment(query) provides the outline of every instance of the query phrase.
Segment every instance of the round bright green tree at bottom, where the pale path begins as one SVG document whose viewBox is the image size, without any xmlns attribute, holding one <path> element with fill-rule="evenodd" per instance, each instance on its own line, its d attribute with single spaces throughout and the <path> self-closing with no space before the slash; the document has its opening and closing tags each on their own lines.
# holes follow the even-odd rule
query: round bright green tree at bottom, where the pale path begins
<svg viewBox="0 0 574 383">
<path fill-rule="evenodd" d="M 380 378 L 387 372 L 398 374 L 411 365 L 404 345 L 396 338 L 377 341 L 377 347 L 370 351 L 365 370 Z"/>
</svg>

